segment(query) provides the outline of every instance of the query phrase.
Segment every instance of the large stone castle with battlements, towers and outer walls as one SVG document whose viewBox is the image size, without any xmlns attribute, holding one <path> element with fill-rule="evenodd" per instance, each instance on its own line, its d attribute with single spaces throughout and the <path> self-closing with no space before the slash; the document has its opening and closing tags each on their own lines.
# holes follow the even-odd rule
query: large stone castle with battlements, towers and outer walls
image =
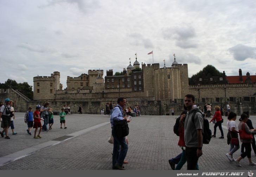
<svg viewBox="0 0 256 177">
<path fill-rule="evenodd" d="M 179 64 L 175 56 L 169 67 L 165 64 L 164 67 L 160 67 L 159 63 L 142 63 L 141 69 L 139 68 L 140 63 L 136 57 L 133 66 L 130 62 L 127 68 L 123 68 L 123 75 L 120 76 L 113 75 L 112 69 L 107 70 L 104 79 L 103 70 L 100 69 L 88 70 L 88 74 L 81 74 L 78 77 L 67 76 L 66 89 L 63 89 L 60 83 L 60 73 L 53 72 L 51 76 L 33 77 L 33 101 L 24 95 L 21 97 L 20 93 L 13 89 L 0 89 L 0 98 L 3 100 L 6 94 L 15 95 L 14 97 L 18 99 L 17 104 L 25 105 L 24 108 L 17 105 L 15 109 L 19 111 L 26 111 L 28 105 L 41 105 L 48 101 L 54 110 L 60 110 L 64 104 L 69 104 L 71 109 L 73 108 L 72 111 L 76 112 L 79 104 L 82 104 L 84 112 L 98 114 L 107 102 L 112 100 L 116 104 L 117 98 L 123 96 L 127 98 L 128 106 L 139 105 L 142 113 L 145 111 L 144 114 L 148 114 L 146 111 L 150 110 L 165 115 L 171 107 L 176 110 L 183 109 L 183 99 L 190 93 L 195 95 L 196 103 L 201 105 L 211 103 L 213 107 L 230 102 L 233 108 L 239 108 L 243 104 L 244 107 L 255 109 L 255 81 L 229 83 L 226 82 L 226 78 L 232 76 L 226 76 L 224 82 L 189 85 L 188 65 Z M 220 80 L 219 77 L 208 77 L 209 81 L 211 78 Z M 195 80 L 205 81 L 205 78 Z"/>
</svg>

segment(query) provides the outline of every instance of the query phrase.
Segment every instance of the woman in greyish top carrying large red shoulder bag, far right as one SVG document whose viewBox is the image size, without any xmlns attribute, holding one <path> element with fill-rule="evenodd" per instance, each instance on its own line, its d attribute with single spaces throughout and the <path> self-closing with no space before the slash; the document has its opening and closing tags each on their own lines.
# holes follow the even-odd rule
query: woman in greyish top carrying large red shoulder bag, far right
<svg viewBox="0 0 256 177">
<path fill-rule="evenodd" d="M 247 121 L 248 121 L 248 115 L 246 114 L 241 114 L 241 118 L 239 118 L 239 124 L 238 124 L 238 129 L 239 130 L 244 130 L 247 134 L 252 134 L 254 131 L 256 131 L 256 129 L 252 129 L 250 130 L 250 128 L 247 125 Z M 238 157 L 237 159 L 235 159 L 235 162 L 237 164 L 237 166 L 242 166 L 240 164 L 240 161 L 247 156 L 249 163 L 248 165 L 256 165 L 256 163 L 252 162 L 251 160 L 251 142 L 252 139 L 242 139 L 241 138 L 241 134 L 240 135 L 240 141 L 242 143 L 244 143 L 244 147 L 245 147 L 245 152 L 243 152 L 243 154 L 241 154 L 240 157 Z"/>
</svg>

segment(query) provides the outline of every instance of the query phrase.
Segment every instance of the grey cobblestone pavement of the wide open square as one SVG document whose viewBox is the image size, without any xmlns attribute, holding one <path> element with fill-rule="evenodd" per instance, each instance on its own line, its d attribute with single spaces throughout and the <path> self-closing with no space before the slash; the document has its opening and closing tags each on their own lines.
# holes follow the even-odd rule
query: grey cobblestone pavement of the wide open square
<svg viewBox="0 0 256 177">
<path fill-rule="evenodd" d="M 73 135 L 73 133 L 84 129 L 91 129 L 81 135 L 59 141 L 55 145 L 42 148 L 15 161 L 1 165 L 0 170 L 112 170 L 111 152 L 113 144 L 107 142 L 111 135 L 109 116 L 69 114 L 66 116 L 67 129 L 60 129 L 59 116 L 54 116 L 55 123 L 52 129 L 48 132 L 41 132 L 42 138 L 34 139 L 34 129 L 31 131 L 32 136 L 27 134 L 24 115 L 25 113 L 15 113 L 14 127 L 18 133 L 17 135 L 9 133 L 11 139 L 0 137 L 0 158 L 11 156 L 17 151 L 23 151 L 56 138 Z M 171 170 L 168 159 L 177 156 L 181 152 L 177 145 L 179 137 L 173 133 L 176 117 L 178 116 L 132 117 L 132 121 L 129 123 L 129 150 L 126 156 L 129 163 L 124 164 L 125 169 Z M 210 118 L 207 119 L 210 120 Z M 256 116 L 251 116 L 250 119 L 256 127 Z M 203 146 L 203 156 L 199 158 L 198 162 L 199 169 L 255 169 L 255 167 L 248 165 L 247 158 L 241 161 L 241 167 L 237 167 L 235 162 L 229 162 L 225 156 L 229 151 L 229 145 L 226 143 L 228 132 L 225 127 L 226 120 L 227 118 L 224 117 L 223 131 L 225 138 L 218 138 L 220 131 L 217 128 L 216 138 L 212 138 L 210 144 L 204 144 Z M 238 118 L 236 122 L 239 123 Z M 94 127 L 95 125 L 100 125 L 100 127 Z M 212 124 L 210 124 L 210 128 L 213 132 Z M 11 132 L 10 128 L 9 132 Z M 239 156 L 240 150 L 233 155 L 235 158 Z M 252 161 L 256 162 L 253 150 L 251 155 Z M 185 164 L 182 170 L 186 170 L 186 166 Z"/>
</svg>

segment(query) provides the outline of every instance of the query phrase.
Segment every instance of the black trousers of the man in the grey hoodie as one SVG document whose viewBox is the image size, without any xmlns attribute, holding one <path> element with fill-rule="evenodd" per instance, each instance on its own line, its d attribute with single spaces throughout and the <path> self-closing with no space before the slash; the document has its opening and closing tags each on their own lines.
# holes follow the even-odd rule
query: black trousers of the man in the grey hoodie
<svg viewBox="0 0 256 177">
<path fill-rule="evenodd" d="M 197 147 L 188 148 L 186 147 L 186 157 L 187 157 L 187 170 L 196 170 L 197 166 Z"/>
</svg>

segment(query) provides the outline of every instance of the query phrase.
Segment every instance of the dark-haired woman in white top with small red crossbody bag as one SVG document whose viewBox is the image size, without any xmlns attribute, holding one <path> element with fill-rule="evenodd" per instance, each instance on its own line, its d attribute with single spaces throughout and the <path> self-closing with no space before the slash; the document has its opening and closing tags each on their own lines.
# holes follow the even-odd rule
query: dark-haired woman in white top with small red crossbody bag
<svg viewBox="0 0 256 177">
<path fill-rule="evenodd" d="M 231 143 L 231 138 L 237 138 L 238 140 L 239 131 L 237 131 L 237 124 L 235 121 L 236 121 L 236 113 L 230 112 L 228 116 L 228 122 L 227 122 L 227 128 L 229 130 L 227 135 L 227 139 L 228 139 L 227 142 L 228 144 L 230 144 L 230 148 L 229 148 L 229 153 L 226 154 L 230 162 L 234 161 L 233 154 L 239 149 L 239 141 L 237 141 L 238 144 Z"/>
</svg>

